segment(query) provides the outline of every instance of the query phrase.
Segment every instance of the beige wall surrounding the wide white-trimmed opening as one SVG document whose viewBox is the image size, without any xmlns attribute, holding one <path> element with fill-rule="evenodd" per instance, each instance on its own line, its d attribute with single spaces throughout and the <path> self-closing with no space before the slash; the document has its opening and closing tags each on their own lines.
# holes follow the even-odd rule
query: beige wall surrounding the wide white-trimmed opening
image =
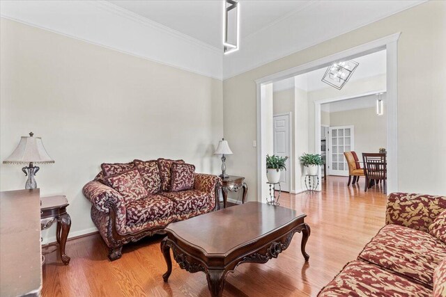
<svg viewBox="0 0 446 297">
<path fill-rule="evenodd" d="M 401 32 L 397 69 L 399 191 L 445 194 L 445 15 L 445 1 L 428 1 L 224 80 L 225 137 L 230 143 L 237 143 L 238 150 L 229 165 L 247 177 L 252 189 L 249 200 L 259 199 L 257 156 L 251 145 L 257 133 L 255 80 L 397 32 Z M 309 110 L 312 108 L 310 103 Z M 309 115 L 312 114 L 310 111 Z M 314 124 L 309 127 L 310 137 L 314 135 L 312 129 Z M 314 150 L 314 141 L 310 140 L 309 145 Z"/>
</svg>

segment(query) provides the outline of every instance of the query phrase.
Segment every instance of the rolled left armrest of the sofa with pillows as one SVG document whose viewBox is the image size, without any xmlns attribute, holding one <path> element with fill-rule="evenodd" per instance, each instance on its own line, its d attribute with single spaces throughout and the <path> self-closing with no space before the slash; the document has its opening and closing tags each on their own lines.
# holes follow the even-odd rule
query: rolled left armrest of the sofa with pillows
<svg viewBox="0 0 446 297">
<path fill-rule="evenodd" d="M 112 204 L 115 204 L 116 209 L 125 207 L 124 198 L 118 191 L 105 184 L 101 184 L 98 181 L 93 180 L 86 184 L 84 188 L 82 188 L 82 192 L 99 211 L 104 211 L 105 213 L 109 212 L 109 207 L 105 205 L 107 200 L 112 202 Z"/>
</svg>

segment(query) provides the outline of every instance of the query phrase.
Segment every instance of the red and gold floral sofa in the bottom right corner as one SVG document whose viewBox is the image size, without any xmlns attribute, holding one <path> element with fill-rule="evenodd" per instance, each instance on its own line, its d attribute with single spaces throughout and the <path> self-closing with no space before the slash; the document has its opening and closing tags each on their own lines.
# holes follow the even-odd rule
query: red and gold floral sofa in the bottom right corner
<svg viewBox="0 0 446 297">
<path fill-rule="evenodd" d="M 386 225 L 319 297 L 446 296 L 446 197 L 392 193 Z"/>
</svg>

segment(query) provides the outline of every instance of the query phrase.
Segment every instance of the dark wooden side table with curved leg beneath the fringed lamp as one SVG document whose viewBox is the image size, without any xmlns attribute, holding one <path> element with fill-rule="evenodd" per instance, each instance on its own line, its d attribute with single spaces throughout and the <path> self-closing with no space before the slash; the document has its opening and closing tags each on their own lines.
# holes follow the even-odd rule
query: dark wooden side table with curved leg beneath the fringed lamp
<svg viewBox="0 0 446 297">
<path fill-rule="evenodd" d="M 65 253 L 65 244 L 70 232 L 71 218 L 66 208 L 68 207 L 68 200 L 66 196 L 51 196 L 40 198 L 40 229 L 45 230 L 57 221 L 56 240 L 59 243 L 61 258 L 63 264 L 70 263 L 70 257 Z"/>
</svg>

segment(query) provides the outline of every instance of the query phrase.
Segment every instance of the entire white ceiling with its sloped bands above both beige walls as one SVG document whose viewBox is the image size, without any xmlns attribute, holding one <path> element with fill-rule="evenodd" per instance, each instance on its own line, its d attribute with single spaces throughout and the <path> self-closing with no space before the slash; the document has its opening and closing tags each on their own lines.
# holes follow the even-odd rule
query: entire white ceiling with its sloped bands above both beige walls
<svg viewBox="0 0 446 297">
<path fill-rule="evenodd" d="M 190 72 L 228 79 L 423 2 L 240 0 L 240 49 L 224 56 L 221 0 L 1 0 L 0 15 Z"/>
</svg>

